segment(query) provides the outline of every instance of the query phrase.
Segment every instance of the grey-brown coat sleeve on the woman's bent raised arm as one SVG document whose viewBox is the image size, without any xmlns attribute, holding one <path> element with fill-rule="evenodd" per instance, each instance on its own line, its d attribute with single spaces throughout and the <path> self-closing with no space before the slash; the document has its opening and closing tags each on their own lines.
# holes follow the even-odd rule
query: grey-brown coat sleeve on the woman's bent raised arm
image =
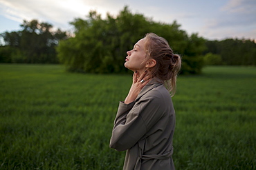
<svg viewBox="0 0 256 170">
<path fill-rule="evenodd" d="M 152 98 L 145 98 L 128 105 L 120 102 L 109 147 L 125 151 L 133 147 L 146 134 L 148 125 L 154 125 L 157 120 L 154 118 L 155 109 L 152 109 L 154 101 Z"/>
</svg>

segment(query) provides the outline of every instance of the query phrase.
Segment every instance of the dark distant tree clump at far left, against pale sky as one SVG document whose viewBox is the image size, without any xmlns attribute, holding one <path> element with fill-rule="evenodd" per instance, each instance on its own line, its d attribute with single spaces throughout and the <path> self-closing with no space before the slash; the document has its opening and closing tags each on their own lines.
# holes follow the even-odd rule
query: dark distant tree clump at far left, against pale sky
<svg viewBox="0 0 256 170">
<path fill-rule="evenodd" d="M 58 63 L 55 47 L 60 39 L 66 39 L 66 32 L 62 32 L 60 29 L 53 31 L 53 25 L 44 22 L 39 23 L 36 19 L 32 21 L 24 20 L 21 29 L 18 32 L 4 32 L 1 34 L 6 46 L 0 48 L 0 58 L 5 58 L 1 61 Z M 8 49 L 9 52 L 7 52 Z M 8 53 L 8 56 L 6 56 L 6 53 Z"/>
</svg>

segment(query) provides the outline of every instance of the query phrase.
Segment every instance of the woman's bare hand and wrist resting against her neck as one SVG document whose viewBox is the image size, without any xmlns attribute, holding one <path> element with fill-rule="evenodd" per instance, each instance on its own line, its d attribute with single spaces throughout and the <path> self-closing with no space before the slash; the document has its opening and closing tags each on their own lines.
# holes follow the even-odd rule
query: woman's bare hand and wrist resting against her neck
<svg viewBox="0 0 256 170">
<path fill-rule="evenodd" d="M 129 90 L 129 94 L 125 98 L 125 104 L 133 102 L 140 93 L 140 90 L 143 89 L 143 87 L 147 85 L 149 81 L 150 76 L 147 76 L 147 70 L 143 74 L 141 74 L 140 77 L 138 77 L 138 72 L 134 72 L 133 83 Z"/>
</svg>

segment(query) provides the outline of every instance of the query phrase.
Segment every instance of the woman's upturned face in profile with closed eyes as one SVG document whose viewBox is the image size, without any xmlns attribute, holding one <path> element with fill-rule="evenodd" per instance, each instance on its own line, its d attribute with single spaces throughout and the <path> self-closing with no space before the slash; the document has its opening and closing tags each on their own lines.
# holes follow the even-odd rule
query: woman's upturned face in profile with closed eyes
<svg viewBox="0 0 256 170">
<path fill-rule="evenodd" d="M 134 49 L 127 52 L 125 67 L 131 71 L 144 72 L 146 65 L 146 54 L 144 49 L 145 39 L 140 39 Z"/>
</svg>

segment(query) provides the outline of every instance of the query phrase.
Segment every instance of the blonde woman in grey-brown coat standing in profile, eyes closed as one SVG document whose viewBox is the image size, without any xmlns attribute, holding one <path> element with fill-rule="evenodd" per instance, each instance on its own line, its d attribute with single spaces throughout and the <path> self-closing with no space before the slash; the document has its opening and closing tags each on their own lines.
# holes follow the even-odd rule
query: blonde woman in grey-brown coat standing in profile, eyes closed
<svg viewBox="0 0 256 170">
<path fill-rule="evenodd" d="M 127 150 L 123 169 L 175 169 L 170 92 L 175 93 L 181 58 L 165 39 L 149 33 L 127 52 L 125 61 L 125 67 L 134 71 L 133 83 L 125 101 L 119 103 L 110 147 Z"/>
</svg>

